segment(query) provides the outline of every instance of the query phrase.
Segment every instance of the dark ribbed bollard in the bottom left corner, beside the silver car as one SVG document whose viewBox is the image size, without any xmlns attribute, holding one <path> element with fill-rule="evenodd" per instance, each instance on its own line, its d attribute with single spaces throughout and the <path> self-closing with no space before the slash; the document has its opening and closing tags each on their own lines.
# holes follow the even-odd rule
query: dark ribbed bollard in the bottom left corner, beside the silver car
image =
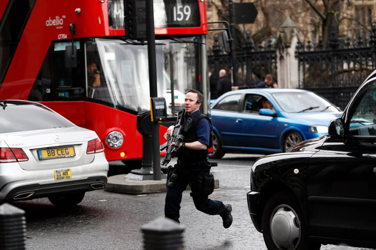
<svg viewBox="0 0 376 250">
<path fill-rule="evenodd" d="M 8 203 L 0 206 L 0 249 L 25 249 L 25 211 Z"/>
</svg>

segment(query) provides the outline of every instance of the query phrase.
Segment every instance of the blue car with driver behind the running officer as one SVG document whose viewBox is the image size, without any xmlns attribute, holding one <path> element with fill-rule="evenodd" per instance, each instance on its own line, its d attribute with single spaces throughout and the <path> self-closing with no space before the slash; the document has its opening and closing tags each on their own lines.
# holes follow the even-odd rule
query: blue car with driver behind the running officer
<svg viewBox="0 0 376 250">
<path fill-rule="evenodd" d="M 330 121 L 342 112 L 318 94 L 302 89 L 242 89 L 227 92 L 212 105 L 213 149 L 274 154 L 300 141 L 327 134 Z"/>
</svg>

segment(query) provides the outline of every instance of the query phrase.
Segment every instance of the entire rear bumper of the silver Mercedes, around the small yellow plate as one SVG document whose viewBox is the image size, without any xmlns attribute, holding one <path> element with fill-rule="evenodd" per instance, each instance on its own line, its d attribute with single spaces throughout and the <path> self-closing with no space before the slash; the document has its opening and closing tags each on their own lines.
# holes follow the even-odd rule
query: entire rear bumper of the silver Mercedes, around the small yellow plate
<svg viewBox="0 0 376 250">
<path fill-rule="evenodd" d="M 55 180 L 55 170 L 70 169 L 71 179 Z M 89 164 L 25 170 L 17 162 L 0 164 L 0 202 L 59 195 L 61 192 L 91 191 L 107 184 L 108 162 L 103 153 Z"/>
</svg>

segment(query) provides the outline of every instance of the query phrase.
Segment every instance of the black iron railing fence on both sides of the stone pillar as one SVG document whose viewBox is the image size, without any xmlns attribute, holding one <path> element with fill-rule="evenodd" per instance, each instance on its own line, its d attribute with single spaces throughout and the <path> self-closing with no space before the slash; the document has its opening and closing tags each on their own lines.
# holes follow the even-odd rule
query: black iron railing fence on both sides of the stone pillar
<svg viewBox="0 0 376 250">
<path fill-rule="evenodd" d="M 218 78 L 219 70 L 226 69 L 234 86 L 239 88 L 254 88 L 268 73 L 276 80 L 275 44 L 269 39 L 264 46 L 255 46 L 250 33 L 246 37 L 247 41 L 239 45 L 231 57 L 224 53 L 219 36 L 215 36 L 213 48 L 208 52 L 209 70 Z M 298 74 L 298 88 L 316 92 L 344 109 L 369 73 L 376 69 L 376 22 L 372 23 L 368 38 L 333 38 L 327 46 L 321 42 L 298 42 L 295 56 L 298 60 L 298 68 L 294 70 Z M 233 76 L 232 67 L 236 72 Z"/>
</svg>

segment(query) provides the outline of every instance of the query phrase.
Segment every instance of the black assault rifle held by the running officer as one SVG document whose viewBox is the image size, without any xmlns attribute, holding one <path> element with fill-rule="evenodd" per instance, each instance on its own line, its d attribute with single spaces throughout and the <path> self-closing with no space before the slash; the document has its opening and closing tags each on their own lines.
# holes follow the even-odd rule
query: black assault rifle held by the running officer
<svg viewBox="0 0 376 250">
<path fill-rule="evenodd" d="M 189 130 L 189 128 L 191 127 L 191 124 L 192 124 L 192 118 L 189 118 L 188 120 L 186 120 L 184 122 L 184 117 L 185 117 L 184 116 L 185 115 L 184 109 L 176 112 L 175 115 L 177 115 L 177 119 L 176 119 L 174 132 L 172 133 L 172 136 L 167 140 L 167 142 L 160 145 L 160 148 L 159 148 L 160 151 L 167 148 L 166 149 L 166 155 L 162 160 L 162 166 L 163 165 L 167 166 L 167 164 L 170 162 L 171 158 L 174 157 L 180 143 L 184 139 L 184 132 L 187 132 Z M 171 143 L 173 143 L 173 142 L 175 142 L 175 144 L 171 145 Z"/>
</svg>

